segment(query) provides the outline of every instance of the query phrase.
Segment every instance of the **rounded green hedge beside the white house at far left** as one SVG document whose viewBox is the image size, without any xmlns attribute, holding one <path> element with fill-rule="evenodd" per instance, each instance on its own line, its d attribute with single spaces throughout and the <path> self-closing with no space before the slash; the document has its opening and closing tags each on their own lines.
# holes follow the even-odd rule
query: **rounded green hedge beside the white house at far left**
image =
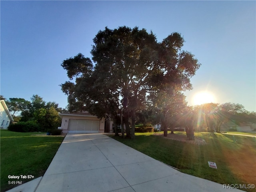
<svg viewBox="0 0 256 192">
<path fill-rule="evenodd" d="M 14 132 L 36 132 L 40 131 L 40 125 L 34 121 L 18 122 L 10 124 L 8 130 Z"/>
</svg>

